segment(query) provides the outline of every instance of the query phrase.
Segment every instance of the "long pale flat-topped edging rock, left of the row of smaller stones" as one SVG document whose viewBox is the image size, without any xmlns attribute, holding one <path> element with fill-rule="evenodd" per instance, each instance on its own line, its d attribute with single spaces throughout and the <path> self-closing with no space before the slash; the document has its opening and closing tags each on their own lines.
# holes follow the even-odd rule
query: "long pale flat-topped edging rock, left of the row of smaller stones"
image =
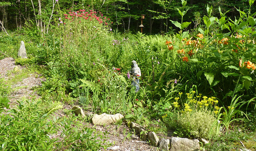
<svg viewBox="0 0 256 151">
<path fill-rule="evenodd" d="M 95 114 L 92 117 L 92 123 L 95 125 L 109 125 L 111 123 L 114 123 L 120 119 L 124 118 L 124 116 L 120 113 L 117 113 L 115 115 L 109 115 L 106 113 L 103 114 Z"/>
</svg>

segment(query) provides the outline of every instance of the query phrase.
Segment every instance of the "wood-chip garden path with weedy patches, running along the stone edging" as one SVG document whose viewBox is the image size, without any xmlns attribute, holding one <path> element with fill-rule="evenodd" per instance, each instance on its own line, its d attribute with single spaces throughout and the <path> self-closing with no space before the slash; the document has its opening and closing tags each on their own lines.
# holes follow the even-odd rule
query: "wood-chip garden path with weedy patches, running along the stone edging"
<svg viewBox="0 0 256 151">
<path fill-rule="evenodd" d="M 33 87 L 42 85 L 45 81 L 40 74 L 30 72 L 26 67 L 15 65 L 13 58 L 4 58 L 0 60 L 0 78 L 3 78 L 6 84 L 10 84 L 11 92 L 8 94 L 10 107 L 18 105 L 16 100 L 39 98 L 40 96 L 33 90 Z M 63 109 L 56 113 L 56 116 L 66 116 L 64 109 L 70 109 L 68 104 L 63 105 Z M 119 146 L 119 151 L 154 151 L 158 150 L 152 147 L 148 142 L 143 142 L 137 135 L 122 125 L 97 126 L 86 123 L 88 127 L 96 131 L 106 132 L 107 141 L 112 144 L 110 147 Z M 111 150 L 111 149 L 107 149 Z"/>
</svg>

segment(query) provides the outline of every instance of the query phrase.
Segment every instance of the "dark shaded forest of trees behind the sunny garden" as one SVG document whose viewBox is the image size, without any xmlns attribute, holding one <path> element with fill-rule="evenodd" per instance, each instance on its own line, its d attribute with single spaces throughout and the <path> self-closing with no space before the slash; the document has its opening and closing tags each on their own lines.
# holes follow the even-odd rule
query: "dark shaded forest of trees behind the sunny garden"
<svg viewBox="0 0 256 151">
<path fill-rule="evenodd" d="M 207 4 L 213 7 L 212 16 L 220 16 L 218 11 L 218 6 L 220 6 L 223 12 L 229 11 L 226 15 L 230 19 L 235 19 L 235 16 L 239 15 L 236 8 L 245 12 L 250 7 L 247 0 L 189 0 L 185 8 L 188 9 L 188 12 L 183 18 L 185 21 L 192 21 L 188 30 L 200 25 L 200 18 L 204 16 Z M 24 26 L 28 28 L 37 26 L 45 33 L 48 26 L 51 26 L 62 12 L 88 6 L 112 20 L 112 29 L 117 29 L 119 32 L 140 31 L 140 27 L 138 27 L 140 14 L 145 14 L 144 33 L 157 34 L 178 31 L 178 28 L 171 24 L 170 19 L 180 20 L 177 11 L 177 8 L 181 7 L 179 0 L 2 0 L 0 2 L 0 20 L 2 22 L 0 30 L 3 30 L 3 27 L 7 30 L 20 30 Z M 255 10 L 255 7 L 251 8 L 251 12 L 255 12 Z"/>
</svg>

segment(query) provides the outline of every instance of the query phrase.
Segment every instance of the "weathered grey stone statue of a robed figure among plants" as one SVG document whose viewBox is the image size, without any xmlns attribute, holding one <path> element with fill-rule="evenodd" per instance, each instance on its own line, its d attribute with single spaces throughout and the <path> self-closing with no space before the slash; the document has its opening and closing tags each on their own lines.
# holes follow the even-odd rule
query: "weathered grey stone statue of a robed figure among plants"
<svg viewBox="0 0 256 151">
<path fill-rule="evenodd" d="M 136 87 L 136 92 L 140 90 L 140 80 L 138 77 L 141 76 L 140 68 L 136 61 L 132 61 L 132 68 L 130 70 L 130 75 L 132 77 L 132 86 Z"/>
</svg>

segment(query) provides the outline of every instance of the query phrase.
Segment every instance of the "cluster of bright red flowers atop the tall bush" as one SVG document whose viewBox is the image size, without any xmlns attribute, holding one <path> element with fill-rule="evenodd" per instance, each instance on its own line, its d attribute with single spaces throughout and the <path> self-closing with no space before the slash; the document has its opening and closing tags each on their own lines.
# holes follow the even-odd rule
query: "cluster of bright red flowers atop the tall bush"
<svg viewBox="0 0 256 151">
<path fill-rule="evenodd" d="M 92 19 L 96 19 L 99 24 L 101 23 L 105 23 L 105 25 L 108 25 L 108 23 L 104 20 L 102 20 L 100 17 L 96 16 L 96 11 L 93 11 L 93 10 L 90 10 L 90 11 L 85 11 L 85 10 L 79 10 L 79 11 L 74 11 L 74 12 L 71 12 L 71 10 L 68 12 L 68 14 L 70 16 L 72 16 L 72 20 L 76 17 L 76 18 L 83 18 L 85 20 L 89 19 L 89 20 L 92 20 Z M 68 18 L 68 14 L 64 14 L 65 16 L 65 19 L 71 19 L 71 18 Z M 101 13 L 100 13 L 101 16 L 103 16 Z M 73 17 L 74 16 L 74 17 Z M 104 19 L 106 20 L 106 17 L 104 17 Z M 108 18 L 109 20 L 109 18 Z M 113 23 L 113 22 L 111 22 Z"/>
</svg>

